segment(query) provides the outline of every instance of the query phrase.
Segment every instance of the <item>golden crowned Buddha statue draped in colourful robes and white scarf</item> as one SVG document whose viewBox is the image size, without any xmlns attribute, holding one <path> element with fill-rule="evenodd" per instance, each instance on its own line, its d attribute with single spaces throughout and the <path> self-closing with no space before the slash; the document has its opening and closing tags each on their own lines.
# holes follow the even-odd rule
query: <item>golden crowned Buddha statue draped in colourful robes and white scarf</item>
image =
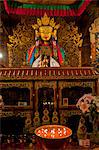
<svg viewBox="0 0 99 150">
<path fill-rule="evenodd" d="M 32 67 L 60 67 L 66 61 L 65 51 L 57 44 L 57 30 L 54 18 L 50 19 L 46 13 L 41 19 L 37 18 L 37 24 L 32 25 L 35 30 L 36 44 L 27 53 L 27 62 Z"/>
</svg>

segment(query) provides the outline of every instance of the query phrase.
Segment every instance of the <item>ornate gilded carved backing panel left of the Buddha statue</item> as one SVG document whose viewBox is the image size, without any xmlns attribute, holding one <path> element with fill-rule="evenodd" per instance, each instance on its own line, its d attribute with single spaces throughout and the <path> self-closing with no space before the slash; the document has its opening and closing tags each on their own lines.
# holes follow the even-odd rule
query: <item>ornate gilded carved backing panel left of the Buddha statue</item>
<svg viewBox="0 0 99 150">
<path fill-rule="evenodd" d="M 25 22 L 22 18 L 21 23 L 18 23 L 16 28 L 13 28 L 13 35 L 9 35 L 8 61 L 10 67 L 21 67 L 26 65 L 26 52 L 34 43 L 34 32 L 30 22 Z"/>
</svg>

